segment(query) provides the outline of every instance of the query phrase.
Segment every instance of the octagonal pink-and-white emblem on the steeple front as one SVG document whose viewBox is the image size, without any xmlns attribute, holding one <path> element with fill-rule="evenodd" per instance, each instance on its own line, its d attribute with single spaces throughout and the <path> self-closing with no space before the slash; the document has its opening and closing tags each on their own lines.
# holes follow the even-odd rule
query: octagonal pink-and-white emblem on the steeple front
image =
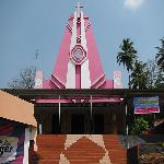
<svg viewBox="0 0 164 164">
<path fill-rule="evenodd" d="M 81 45 L 75 45 L 71 50 L 70 58 L 75 65 L 82 65 L 86 59 L 86 51 Z"/>
</svg>

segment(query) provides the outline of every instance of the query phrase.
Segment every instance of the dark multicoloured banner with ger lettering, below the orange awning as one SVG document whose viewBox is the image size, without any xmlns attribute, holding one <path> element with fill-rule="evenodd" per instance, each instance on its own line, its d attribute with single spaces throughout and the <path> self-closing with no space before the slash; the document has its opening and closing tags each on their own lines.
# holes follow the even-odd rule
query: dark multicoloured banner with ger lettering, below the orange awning
<svg viewBox="0 0 164 164">
<path fill-rule="evenodd" d="M 0 164 L 23 163 L 25 126 L 0 119 Z"/>
</svg>

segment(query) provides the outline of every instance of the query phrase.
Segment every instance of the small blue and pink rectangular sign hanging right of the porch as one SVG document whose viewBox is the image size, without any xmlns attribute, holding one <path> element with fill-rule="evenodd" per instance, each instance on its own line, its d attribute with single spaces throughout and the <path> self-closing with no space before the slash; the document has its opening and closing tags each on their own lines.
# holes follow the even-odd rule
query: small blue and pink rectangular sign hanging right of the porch
<svg viewBox="0 0 164 164">
<path fill-rule="evenodd" d="M 134 114 L 160 113 L 159 96 L 154 97 L 134 97 Z"/>
</svg>

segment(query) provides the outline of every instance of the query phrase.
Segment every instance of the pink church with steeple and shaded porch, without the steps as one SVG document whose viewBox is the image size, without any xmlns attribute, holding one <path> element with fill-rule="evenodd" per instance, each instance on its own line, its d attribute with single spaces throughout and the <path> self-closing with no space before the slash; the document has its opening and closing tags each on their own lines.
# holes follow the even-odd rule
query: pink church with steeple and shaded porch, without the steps
<svg viewBox="0 0 164 164">
<path fill-rule="evenodd" d="M 80 3 L 68 19 L 55 68 L 44 80 L 37 71 L 35 89 L 121 89 L 121 72 L 105 77 L 89 16 Z M 122 133 L 125 120 L 119 97 L 36 99 L 36 118 L 43 133 Z M 58 107 L 60 104 L 60 109 Z M 69 103 L 69 106 L 67 105 Z M 91 109 L 92 103 L 92 109 Z M 39 109 L 44 104 L 48 109 Z M 56 105 L 55 105 L 56 104 Z M 114 105 L 115 104 L 115 105 Z M 79 107 L 77 107 L 79 106 Z M 121 119 L 120 119 L 121 118 Z"/>
</svg>

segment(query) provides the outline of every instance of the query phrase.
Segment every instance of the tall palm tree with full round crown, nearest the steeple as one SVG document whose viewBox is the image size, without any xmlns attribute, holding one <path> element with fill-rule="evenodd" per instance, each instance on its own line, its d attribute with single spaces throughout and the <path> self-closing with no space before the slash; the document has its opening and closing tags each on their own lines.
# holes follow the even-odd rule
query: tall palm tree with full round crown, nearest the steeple
<svg viewBox="0 0 164 164">
<path fill-rule="evenodd" d="M 137 50 L 133 47 L 133 42 L 130 38 L 124 39 L 122 44 L 119 46 L 120 51 L 117 54 L 117 62 L 124 65 L 124 68 L 127 68 L 127 71 L 133 70 L 133 63 L 137 61 Z M 130 82 L 130 75 L 129 75 Z"/>
</svg>

